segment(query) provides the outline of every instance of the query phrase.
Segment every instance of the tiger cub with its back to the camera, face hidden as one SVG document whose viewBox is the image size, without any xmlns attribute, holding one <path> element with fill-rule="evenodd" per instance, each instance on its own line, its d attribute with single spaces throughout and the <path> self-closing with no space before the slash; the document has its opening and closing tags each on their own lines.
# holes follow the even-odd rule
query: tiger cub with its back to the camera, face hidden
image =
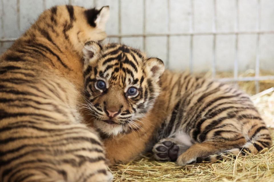
<svg viewBox="0 0 274 182">
<path fill-rule="evenodd" d="M 46 10 L 0 58 L 0 181 L 110 181 L 82 123 L 82 48 L 106 38 L 109 8 Z"/>
</svg>

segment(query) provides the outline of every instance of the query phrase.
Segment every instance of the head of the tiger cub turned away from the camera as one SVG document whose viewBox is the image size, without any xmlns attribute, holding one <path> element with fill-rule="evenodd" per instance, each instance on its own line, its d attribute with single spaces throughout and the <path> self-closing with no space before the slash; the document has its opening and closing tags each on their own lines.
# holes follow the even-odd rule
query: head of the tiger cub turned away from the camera
<svg viewBox="0 0 274 182">
<path fill-rule="evenodd" d="M 41 34 L 51 42 L 63 42 L 64 45 L 69 42 L 81 55 L 86 42 L 106 38 L 105 26 L 108 18 L 108 6 L 86 9 L 59 5 L 44 11 L 26 35 L 35 39 Z"/>
</svg>

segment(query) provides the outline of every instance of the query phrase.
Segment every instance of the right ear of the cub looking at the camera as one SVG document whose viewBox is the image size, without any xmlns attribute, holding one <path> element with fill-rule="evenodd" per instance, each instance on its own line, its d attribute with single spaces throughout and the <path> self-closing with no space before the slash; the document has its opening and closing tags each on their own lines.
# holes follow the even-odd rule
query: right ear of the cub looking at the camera
<svg viewBox="0 0 274 182">
<path fill-rule="evenodd" d="M 158 78 L 165 71 L 164 62 L 156 57 L 149 58 L 146 60 L 146 69 L 150 76 L 158 81 Z"/>
</svg>

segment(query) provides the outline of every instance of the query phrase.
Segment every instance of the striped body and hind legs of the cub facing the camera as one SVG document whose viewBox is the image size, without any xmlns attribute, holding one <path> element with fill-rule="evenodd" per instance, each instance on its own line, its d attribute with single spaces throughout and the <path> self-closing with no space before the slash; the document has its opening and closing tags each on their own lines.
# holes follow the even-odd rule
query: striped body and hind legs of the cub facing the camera
<svg viewBox="0 0 274 182">
<path fill-rule="evenodd" d="M 169 71 L 162 75 L 162 88 L 169 93 L 162 99 L 170 115 L 158 129 L 156 159 L 186 165 L 220 160 L 227 153 L 257 154 L 271 145 L 260 114 L 238 88 Z"/>
</svg>

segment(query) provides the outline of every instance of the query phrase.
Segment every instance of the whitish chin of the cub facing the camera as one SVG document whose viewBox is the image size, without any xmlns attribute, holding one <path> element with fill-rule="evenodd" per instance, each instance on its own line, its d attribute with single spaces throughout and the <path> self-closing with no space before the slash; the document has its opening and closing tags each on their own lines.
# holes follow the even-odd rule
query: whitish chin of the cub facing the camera
<svg viewBox="0 0 274 182">
<path fill-rule="evenodd" d="M 108 135 L 118 135 L 123 131 L 123 127 L 121 125 L 111 125 L 108 123 L 105 123 L 104 121 L 94 121 L 94 126 L 98 129 L 100 129 L 102 132 L 108 134 Z"/>
</svg>

